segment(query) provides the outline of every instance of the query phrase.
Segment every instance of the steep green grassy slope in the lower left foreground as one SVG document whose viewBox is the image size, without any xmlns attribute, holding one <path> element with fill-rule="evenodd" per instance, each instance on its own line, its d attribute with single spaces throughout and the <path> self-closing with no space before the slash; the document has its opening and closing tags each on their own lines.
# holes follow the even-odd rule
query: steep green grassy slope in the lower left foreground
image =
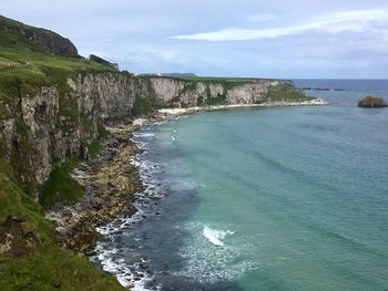
<svg viewBox="0 0 388 291">
<path fill-rule="evenodd" d="M 115 279 L 96 270 L 86 259 L 57 245 L 42 208 L 11 180 L 11 175 L 1 159 L 0 221 L 10 215 L 23 219 L 24 231 L 32 231 L 39 246 L 20 258 L 0 257 L 0 290 L 123 290 Z M 18 247 L 22 246 L 23 242 Z"/>
</svg>

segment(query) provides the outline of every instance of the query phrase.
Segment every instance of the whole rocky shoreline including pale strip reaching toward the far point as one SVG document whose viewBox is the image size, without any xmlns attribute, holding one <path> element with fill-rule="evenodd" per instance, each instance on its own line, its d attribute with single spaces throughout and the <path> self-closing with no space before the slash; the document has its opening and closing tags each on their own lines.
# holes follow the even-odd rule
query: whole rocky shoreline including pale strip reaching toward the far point
<svg viewBox="0 0 388 291">
<path fill-rule="evenodd" d="M 72 173 L 72 177 L 85 187 L 80 201 L 73 205 L 57 205 L 45 217 L 55 225 L 59 241 L 62 247 L 76 251 L 91 260 L 99 256 L 101 246 L 112 231 L 118 231 L 135 216 L 139 209 L 133 205 L 136 194 L 145 189 L 145 181 L 140 177 L 139 165 L 134 157 L 142 148 L 133 141 L 134 132 L 143 125 L 167 122 L 178 116 L 207 111 L 224 111 L 234 108 L 272 107 L 272 106 L 318 106 L 326 105 L 324 100 L 308 102 L 273 102 L 264 104 L 218 105 L 207 107 L 164 108 L 146 118 L 137 118 L 132 124 L 108 127 L 111 137 L 104 145 L 99 158 L 81 164 Z M 125 228 L 125 225 L 124 225 Z M 100 267 L 102 267 L 100 261 Z M 143 290 L 147 280 L 146 270 L 139 266 L 139 272 L 129 274 L 120 272 L 118 267 L 103 268 L 113 274 L 124 287 Z M 144 269 L 144 268 L 143 268 Z"/>
</svg>

